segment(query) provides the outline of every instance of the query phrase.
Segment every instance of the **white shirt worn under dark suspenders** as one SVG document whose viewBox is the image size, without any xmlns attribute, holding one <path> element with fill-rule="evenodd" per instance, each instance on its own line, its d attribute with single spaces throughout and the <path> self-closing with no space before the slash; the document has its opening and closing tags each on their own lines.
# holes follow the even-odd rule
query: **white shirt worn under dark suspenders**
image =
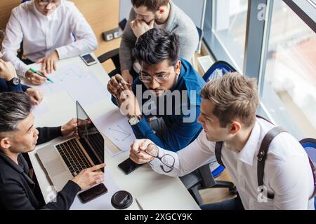
<svg viewBox="0 0 316 224">
<path fill-rule="evenodd" d="M 299 142 L 287 132 L 272 140 L 267 158 L 263 183 L 274 200 L 262 202 L 258 192 L 257 155 L 265 134 L 272 129 L 265 120 L 257 119 L 251 136 L 240 153 L 229 150 L 223 144 L 221 158 L 235 183 L 244 209 L 312 209 L 314 191 L 312 169 L 308 156 Z M 183 176 L 204 165 L 215 155 L 215 142 L 208 141 L 204 131 L 189 146 L 178 153 L 159 148 L 159 156 L 171 154 L 176 158 L 172 172 L 164 173 L 161 162 L 152 160 L 150 165 L 159 174 Z M 170 161 L 167 164 L 171 164 Z M 259 197 L 258 197 L 259 196 Z"/>
</svg>

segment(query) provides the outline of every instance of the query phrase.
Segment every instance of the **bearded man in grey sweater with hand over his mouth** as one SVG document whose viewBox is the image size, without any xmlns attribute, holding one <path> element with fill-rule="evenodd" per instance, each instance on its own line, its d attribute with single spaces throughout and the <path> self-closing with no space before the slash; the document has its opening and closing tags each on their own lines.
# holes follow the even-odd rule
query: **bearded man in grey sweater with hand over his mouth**
<svg viewBox="0 0 316 224">
<path fill-rule="evenodd" d="M 119 48 L 120 68 L 109 73 L 110 76 L 121 72 L 128 82 L 140 71 L 139 63 L 133 57 L 133 48 L 138 37 L 152 28 L 166 29 L 178 34 L 180 38 L 180 57 L 190 60 L 197 50 L 199 36 L 194 22 L 171 0 L 131 0 L 133 8 L 124 29 Z"/>
</svg>

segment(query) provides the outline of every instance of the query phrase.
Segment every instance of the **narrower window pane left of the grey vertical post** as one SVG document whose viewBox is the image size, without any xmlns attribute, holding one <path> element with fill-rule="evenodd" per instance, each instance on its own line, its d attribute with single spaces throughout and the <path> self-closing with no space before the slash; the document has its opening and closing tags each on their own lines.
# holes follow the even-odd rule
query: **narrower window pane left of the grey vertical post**
<svg viewBox="0 0 316 224">
<path fill-rule="evenodd" d="M 247 0 L 206 3 L 204 41 L 216 59 L 229 62 L 239 71 L 242 71 L 244 61 L 247 8 Z"/>
</svg>

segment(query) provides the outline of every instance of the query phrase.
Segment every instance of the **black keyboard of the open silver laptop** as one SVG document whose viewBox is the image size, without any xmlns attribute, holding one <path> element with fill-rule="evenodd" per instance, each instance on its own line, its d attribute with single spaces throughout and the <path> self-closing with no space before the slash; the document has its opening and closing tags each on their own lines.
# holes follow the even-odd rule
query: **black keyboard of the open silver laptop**
<svg viewBox="0 0 316 224">
<path fill-rule="evenodd" d="M 91 162 L 86 158 L 84 152 L 81 151 L 75 139 L 70 139 L 55 147 L 65 161 L 72 176 L 77 176 L 82 169 L 92 167 Z"/>
</svg>

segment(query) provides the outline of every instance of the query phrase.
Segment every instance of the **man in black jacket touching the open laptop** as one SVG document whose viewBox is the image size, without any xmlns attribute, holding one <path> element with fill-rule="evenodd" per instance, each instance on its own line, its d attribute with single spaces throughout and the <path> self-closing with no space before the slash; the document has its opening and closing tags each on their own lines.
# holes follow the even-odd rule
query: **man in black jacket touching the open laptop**
<svg viewBox="0 0 316 224">
<path fill-rule="evenodd" d="M 103 172 L 97 170 L 105 164 L 84 169 L 53 202 L 41 204 L 34 196 L 35 183 L 22 153 L 55 137 L 74 134 L 77 122 L 72 119 L 61 127 L 35 128 L 32 104 L 23 92 L 1 92 L 0 105 L 0 209 L 69 209 L 80 190 L 104 181 Z"/>
</svg>

